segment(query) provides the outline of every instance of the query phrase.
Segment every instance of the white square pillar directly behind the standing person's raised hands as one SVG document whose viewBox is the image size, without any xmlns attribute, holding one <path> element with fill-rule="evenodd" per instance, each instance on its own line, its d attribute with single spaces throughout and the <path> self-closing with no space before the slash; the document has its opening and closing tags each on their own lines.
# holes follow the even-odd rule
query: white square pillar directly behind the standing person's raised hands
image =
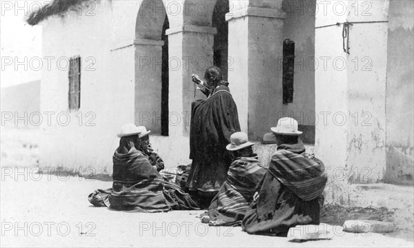
<svg viewBox="0 0 414 248">
<path fill-rule="evenodd" d="M 166 30 L 170 68 L 169 111 L 170 136 L 189 136 L 191 103 L 205 97 L 191 75 L 201 79 L 208 66 L 213 65 L 213 43 L 217 30 L 208 26 L 182 25 Z"/>
</svg>

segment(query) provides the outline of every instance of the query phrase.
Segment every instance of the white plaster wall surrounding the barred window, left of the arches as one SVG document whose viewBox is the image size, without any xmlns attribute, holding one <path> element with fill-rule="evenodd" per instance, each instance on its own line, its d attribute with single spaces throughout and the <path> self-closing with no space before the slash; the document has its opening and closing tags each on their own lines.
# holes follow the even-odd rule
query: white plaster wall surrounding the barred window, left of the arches
<svg viewBox="0 0 414 248">
<path fill-rule="evenodd" d="M 51 125 L 43 122 L 42 167 L 93 166 L 97 173 L 110 173 L 112 153 L 118 142 L 115 133 L 121 124 L 133 121 L 134 75 L 133 70 L 132 74 L 123 70 L 128 64 L 133 65 L 133 50 L 129 61 L 131 51 L 115 54 L 110 51 L 112 6 L 110 1 L 96 3 L 95 15 L 71 12 L 66 17 L 51 17 L 41 23 L 43 56 L 79 55 L 82 63 L 81 108 L 69 114 L 68 125 L 59 125 L 56 119 L 58 113 L 68 112 L 68 70 L 56 66 L 42 70 L 41 112 L 56 113 Z M 61 120 L 64 122 L 66 118 L 63 116 Z"/>
</svg>

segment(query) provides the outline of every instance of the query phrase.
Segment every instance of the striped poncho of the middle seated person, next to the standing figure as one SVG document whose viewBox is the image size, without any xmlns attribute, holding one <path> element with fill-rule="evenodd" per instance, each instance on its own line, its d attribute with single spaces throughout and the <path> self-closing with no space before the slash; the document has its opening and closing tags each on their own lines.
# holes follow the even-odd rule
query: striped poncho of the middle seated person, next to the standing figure
<svg viewBox="0 0 414 248">
<path fill-rule="evenodd" d="M 237 158 L 228 168 L 227 180 L 213 198 L 208 212 L 201 216 L 208 215 L 209 225 L 213 226 L 242 224 L 255 187 L 265 173 L 257 156 Z"/>
</svg>

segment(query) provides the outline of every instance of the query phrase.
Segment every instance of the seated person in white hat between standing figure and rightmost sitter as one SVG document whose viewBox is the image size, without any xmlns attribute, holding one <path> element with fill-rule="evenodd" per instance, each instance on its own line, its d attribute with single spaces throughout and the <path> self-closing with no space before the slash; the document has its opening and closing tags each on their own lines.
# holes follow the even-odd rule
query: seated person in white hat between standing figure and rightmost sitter
<svg viewBox="0 0 414 248">
<path fill-rule="evenodd" d="M 266 173 L 253 153 L 254 143 L 247 134 L 236 132 L 230 136 L 226 149 L 231 152 L 233 163 L 227 172 L 227 180 L 213 198 L 208 212 L 201 214 L 201 222 L 209 225 L 240 225 L 248 205 L 253 200 L 255 186 Z"/>
</svg>

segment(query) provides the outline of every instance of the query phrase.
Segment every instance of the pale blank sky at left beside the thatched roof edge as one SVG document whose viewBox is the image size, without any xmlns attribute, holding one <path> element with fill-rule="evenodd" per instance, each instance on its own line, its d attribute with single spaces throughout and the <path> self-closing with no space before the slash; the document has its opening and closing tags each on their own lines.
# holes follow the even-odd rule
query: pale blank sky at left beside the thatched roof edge
<svg viewBox="0 0 414 248">
<path fill-rule="evenodd" d="M 0 0 L 0 87 L 41 78 L 41 26 L 31 26 L 25 18 L 45 3 Z"/>
</svg>

